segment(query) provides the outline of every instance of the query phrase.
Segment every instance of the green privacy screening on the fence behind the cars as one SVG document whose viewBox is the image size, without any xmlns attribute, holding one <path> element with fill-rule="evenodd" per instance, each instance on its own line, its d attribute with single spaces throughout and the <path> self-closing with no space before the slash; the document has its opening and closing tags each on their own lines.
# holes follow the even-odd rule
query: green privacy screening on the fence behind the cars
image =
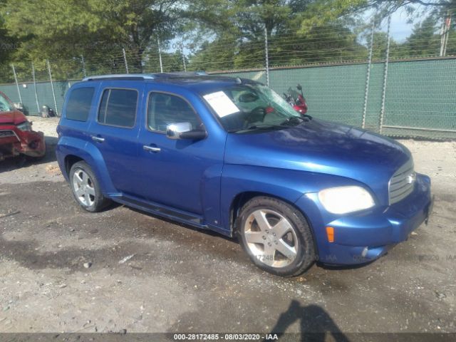
<svg viewBox="0 0 456 342">
<path fill-rule="evenodd" d="M 367 71 L 367 63 L 271 68 L 269 86 L 282 94 L 300 83 L 315 118 L 361 126 L 364 116 L 365 128 L 385 135 L 456 138 L 456 58 L 390 61 L 388 72 L 384 62 L 372 63 L 368 82 Z M 264 70 L 214 74 L 266 83 Z M 58 113 L 73 82 L 53 83 Z M 19 102 L 15 84 L 0 90 Z M 51 83 L 36 83 L 36 97 L 33 83 L 19 83 L 19 91 L 31 115 L 38 113 L 36 98 L 55 109 Z"/>
</svg>

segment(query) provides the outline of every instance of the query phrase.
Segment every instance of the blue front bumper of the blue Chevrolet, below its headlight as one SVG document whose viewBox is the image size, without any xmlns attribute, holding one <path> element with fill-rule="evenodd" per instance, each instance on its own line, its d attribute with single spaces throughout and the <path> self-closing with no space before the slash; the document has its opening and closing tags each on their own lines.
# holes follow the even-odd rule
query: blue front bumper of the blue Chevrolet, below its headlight
<svg viewBox="0 0 456 342">
<path fill-rule="evenodd" d="M 306 200 L 301 197 L 296 204 L 309 207 L 309 203 L 304 203 Z M 417 176 L 413 192 L 402 201 L 359 214 L 328 217 L 318 199 L 313 200 L 316 207 L 310 210 L 308 218 L 316 239 L 318 260 L 325 264 L 363 264 L 377 259 L 408 239 L 432 211 L 430 178 L 426 175 Z M 333 227 L 334 242 L 328 242 L 326 227 Z"/>
</svg>

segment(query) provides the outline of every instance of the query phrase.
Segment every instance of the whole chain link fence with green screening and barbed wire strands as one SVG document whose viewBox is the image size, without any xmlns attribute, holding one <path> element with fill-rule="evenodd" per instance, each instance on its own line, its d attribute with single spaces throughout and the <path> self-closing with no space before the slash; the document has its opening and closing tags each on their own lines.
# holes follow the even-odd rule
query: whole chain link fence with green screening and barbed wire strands
<svg viewBox="0 0 456 342">
<path fill-rule="evenodd" d="M 168 46 L 165 52 L 159 41 L 141 53 L 115 46 L 103 57 L 2 66 L 1 79 L 7 84 L 0 85 L 0 91 L 23 103 L 29 115 L 40 113 L 43 105 L 61 113 L 66 91 L 84 76 L 204 69 L 213 75 L 267 83 L 279 94 L 296 90 L 300 83 L 308 113 L 323 120 L 396 137 L 456 138 L 454 32 L 447 33 L 445 49 L 441 41 L 395 43 L 390 40 L 389 21 L 373 26 L 366 43 L 346 48 L 339 46 L 340 39 L 320 31 L 306 40 L 273 36 L 266 41 L 264 33 L 259 33 L 257 41 L 240 46 L 233 41 L 217 42 L 196 55 L 183 43 Z M 170 53 L 170 48 L 175 52 Z M 213 58 L 221 51 L 222 57 Z M 233 51 L 232 55 L 227 51 Z M 247 61 L 244 58 L 244 68 L 236 70 L 242 54 Z"/>
</svg>

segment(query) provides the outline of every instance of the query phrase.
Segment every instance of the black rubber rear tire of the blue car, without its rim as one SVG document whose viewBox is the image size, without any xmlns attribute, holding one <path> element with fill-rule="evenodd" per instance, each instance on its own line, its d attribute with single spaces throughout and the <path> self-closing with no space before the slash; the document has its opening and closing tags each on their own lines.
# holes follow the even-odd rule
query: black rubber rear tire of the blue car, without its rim
<svg viewBox="0 0 456 342">
<path fill-rule="evenodd" d="M 88 201 L 88 203 L 82 202 L 80 197 L 76 194 L 76 189 L 74 185 L 74 177 L 76 177 L 76 174 L 78 174 L 78 172 L 79 174 L 81 174 L 81 171 L 85 172 L 86 175 L 88 175 L 88 178 L 90 180 L 89 183 L 94 191 L 94 195 L 90 195 L 90 201 Z M 83 209 L 86 209 L 88 212 L 100 212 L 110 204 L 110 199 L 103 196 L 103 192 L 101 192 L 98 179 L 95 176 L 93 170 L 86 162 L 81 161 L 73 164 L 69 176 L 71 192 L 73 192 L 73 196 L 76 199 L 76 202 L 78 202 L 78 204 L 81 205 Z"/>
</svg>

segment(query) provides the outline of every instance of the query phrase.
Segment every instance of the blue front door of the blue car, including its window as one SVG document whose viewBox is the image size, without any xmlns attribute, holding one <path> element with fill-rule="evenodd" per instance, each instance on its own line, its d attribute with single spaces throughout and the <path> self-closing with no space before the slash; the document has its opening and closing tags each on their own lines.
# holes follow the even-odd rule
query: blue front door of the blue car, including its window
<svg viewBox="0 0 456 342">
<path fill-rule="evenodd" d="M 145 126 L 138 137 L 143 175 L 138 192 L 151 202 L 185 212 L 200 215 L 203 206 L 205 214 L 215 212 L 219 207 L 225 140 L 210 133 L 202 140 L 167 138 L 167 125 L 190 123 L 192 129 L 205 130 L 204 123 L 195 103 L 184 94 L 151 88 L 145 99 Z"/>
</svg>

